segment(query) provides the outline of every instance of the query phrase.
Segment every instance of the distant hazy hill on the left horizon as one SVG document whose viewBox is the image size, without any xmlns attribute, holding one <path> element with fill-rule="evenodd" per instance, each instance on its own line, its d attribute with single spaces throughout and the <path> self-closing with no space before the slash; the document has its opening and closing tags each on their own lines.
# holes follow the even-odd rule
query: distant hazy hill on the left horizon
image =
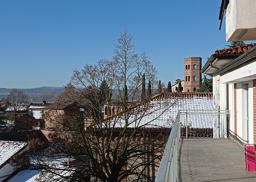
<svg viewBox="0 0 256 182">
<path fill-rule="evenodd" d="M 12 88 L 0 88 L 0 94 L 9 94 Z M 18 88 L 26 94 L 40 94 L 41 92 L 48 91 L 55 94 L 64 91 L 63 87 L 40 87 L 40 88 Z"/>
</svg>

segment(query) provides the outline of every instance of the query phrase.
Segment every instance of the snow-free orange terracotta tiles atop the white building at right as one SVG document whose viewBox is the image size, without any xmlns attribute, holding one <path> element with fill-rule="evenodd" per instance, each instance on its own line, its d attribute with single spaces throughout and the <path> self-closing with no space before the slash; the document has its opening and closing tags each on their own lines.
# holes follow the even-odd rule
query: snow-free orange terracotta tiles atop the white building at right
<svg viewBox="0 0 256 182">
<path fill-rule="evenodd" d="M 230 47 L 230 48 L 224 48 L 221 50 L 216 50 L 213 54 L 243 54 L 246 51 L 250 50 L 256 45 L 256 43 L 251 43 L 251 44 L 244 44 L 241 46 L 236 46 L 236 47 Z"/>
</svg>

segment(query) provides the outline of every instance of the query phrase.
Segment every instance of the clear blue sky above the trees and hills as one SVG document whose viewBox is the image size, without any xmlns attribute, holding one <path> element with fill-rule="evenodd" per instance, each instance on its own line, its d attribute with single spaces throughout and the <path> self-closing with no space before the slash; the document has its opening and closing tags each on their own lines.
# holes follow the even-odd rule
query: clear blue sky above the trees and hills
<svg viewBox="0 0 256 182">
<path fill-rule="evenodd" d="M 221 1 L 0 1 L 0 87 L 63 86 L 74 68 L 111 59 L 127 27 L 158 79 L 184 79 L 184 58 L 202 65 L 229 43 Z"/>
</svg>

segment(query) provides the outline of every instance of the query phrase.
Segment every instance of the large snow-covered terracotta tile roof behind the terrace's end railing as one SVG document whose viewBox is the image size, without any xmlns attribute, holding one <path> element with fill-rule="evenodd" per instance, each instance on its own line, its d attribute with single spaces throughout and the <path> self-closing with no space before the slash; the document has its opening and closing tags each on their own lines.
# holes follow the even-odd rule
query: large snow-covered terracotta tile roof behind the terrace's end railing
<svg viewBox="0 0 256 182">
<path fill-rule="evenodd" d="M 172 106 L 168 110 L 165 110 L 165 108 L 169 107 L 170 105 Z M 130 108 L 129 110 L 133 111 L 132 113 L 134 114 L 131 114 L 129 116 L 129 119 L 139 120 L 140 125 L 144 125 L 148 123 L 148 121 L 152 120 L 151 123 L 147 124 L 145 127 L 142 128 L 145 130 L 156 130 L 156 128 L 170 128 L 172 127 L 171 122 L 175 120 L 178 110 L 213 110 L 212 92 L 161 93 L 154 96 L 149 102 L 149 105 L 145 107 L 147 108 L 146 113 L 143 103 L 137 104 Z M 124 125 L 123 112 L 120 112 L 117 115 L 118 122 L 114 126 L 115 129 L 122 128 Z M 115 119 L 115 116 L 113 115 L 112 117 L 109 117 L 109 119 Z M 134 124 L 135 122 L 132 122 L 129 127 L 135 127 Z M 203 124 L 203 126 L 201 126 L 200 123 L 196 121 L 195 123 L 192 123 L 192 127 L 213 127 L 213 122 L 210 118 L 207 118 L 206 123 L 201 124 Z"/>
</svg>

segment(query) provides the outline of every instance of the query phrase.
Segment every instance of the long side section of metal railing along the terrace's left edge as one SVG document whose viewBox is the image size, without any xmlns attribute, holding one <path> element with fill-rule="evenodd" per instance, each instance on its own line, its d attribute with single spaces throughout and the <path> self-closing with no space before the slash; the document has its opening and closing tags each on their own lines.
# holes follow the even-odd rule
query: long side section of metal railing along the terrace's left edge
<svg viewBox="0 0 256 182">
<path fill-rule="evenodd" d="M 158 169 L 156 182 L 177 181 L 178 179 L 177 164 L 181 139 L 180 125 L 180 111 L 178 111 Z"/>
</svg>

